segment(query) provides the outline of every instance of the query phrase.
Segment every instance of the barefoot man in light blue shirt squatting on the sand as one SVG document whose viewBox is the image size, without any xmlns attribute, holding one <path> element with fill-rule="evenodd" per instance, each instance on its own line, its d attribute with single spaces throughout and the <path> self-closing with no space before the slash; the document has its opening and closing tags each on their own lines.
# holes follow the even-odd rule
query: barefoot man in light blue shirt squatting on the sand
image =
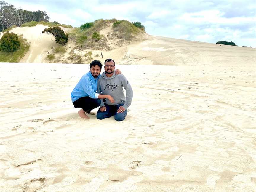
<svg viewBox="0 0 256 192">
<path fill-rule="evenodd" d="M 82 118 L 90 119 L 85 113 L 90 114 L 91 110 L 100 106 L 100 99 L 108 99 L 114 103 L 111 95 L 100 95 L 97 93 L 97 83 L 100 76 L 102 64 L 99 60 L 90 63 L 90 71 L 84 74 L 71 93 L 71 100 L 75 108 L 81 108 L 78 114 Z M 117 74 L 121 72 L 116 71 Z"/>
</svg>

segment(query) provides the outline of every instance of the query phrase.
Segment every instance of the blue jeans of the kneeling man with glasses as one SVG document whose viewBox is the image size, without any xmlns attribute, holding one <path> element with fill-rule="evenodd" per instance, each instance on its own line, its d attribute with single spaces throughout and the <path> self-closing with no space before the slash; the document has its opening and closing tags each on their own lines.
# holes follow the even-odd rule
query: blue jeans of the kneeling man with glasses
<svg viewBox="0 0 256 192">
<path fill-rule="evenodd" d="M 97 112 L 97 119 L 105 119 L 105 118 L 109 118 L 114 115 L 116 121 L 124 121 L 126 114 L 127 114 L 127 110 L 123 111 L 122 113 L 116 112 L 119 109 L 119 107 L 123 106 L 123 105 L 124 104 L 108 105 L 105 103 L 107 110 L 104 112 L 101 112 L 99 109 Z"/>
</svg>

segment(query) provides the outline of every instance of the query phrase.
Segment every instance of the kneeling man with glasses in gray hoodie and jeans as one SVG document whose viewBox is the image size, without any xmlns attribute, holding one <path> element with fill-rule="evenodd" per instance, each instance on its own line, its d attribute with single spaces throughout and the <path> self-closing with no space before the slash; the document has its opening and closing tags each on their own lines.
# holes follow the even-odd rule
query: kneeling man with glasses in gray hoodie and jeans
<svg viewBox="0 0 256 192">
<path fill-rule="evenodd" d="M 116 75 L 114 60 L 107 59 L 104 64 L 105 72 L 98 80 L 97 92 L 103 95 L 111 95 L 115 102 L 111 103 L 109 100 L 106 100 L 104 103 L 101 99 L 97 119 L 115 116 L 116 121 L 123 121 L 127 114 L 127 108 L 132 103 L 132 87 L 123 74 Z M 123 87 L 126 92 L 126 97 L 124 96 Z"/>
</svg>

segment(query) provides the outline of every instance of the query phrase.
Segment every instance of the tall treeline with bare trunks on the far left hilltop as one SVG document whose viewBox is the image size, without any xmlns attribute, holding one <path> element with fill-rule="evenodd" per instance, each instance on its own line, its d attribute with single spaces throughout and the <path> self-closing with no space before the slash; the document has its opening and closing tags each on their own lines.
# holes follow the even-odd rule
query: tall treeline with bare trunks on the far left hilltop
<svg viewBox="0 0 256 192">
<path fill-rule="evenodd" d="M 48 22 L 50 17 L 45 11 L 27 11 L 16 9 L 4 1 L 0 1 L 0 32 L 4 29 L 16 25 L 20 27 L 23 23 L 29 21 Z"/>
</svg>

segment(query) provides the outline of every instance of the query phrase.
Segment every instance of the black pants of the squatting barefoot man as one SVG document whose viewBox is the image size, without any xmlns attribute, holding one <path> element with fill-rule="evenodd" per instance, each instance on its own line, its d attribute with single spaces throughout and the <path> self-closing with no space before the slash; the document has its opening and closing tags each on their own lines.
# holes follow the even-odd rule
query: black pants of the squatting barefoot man
<svg viewBox="0 0 256 192">
<path fill-rule="evenodd" d="M 82 108 L 86 113 L 90 113 L 93 109 L 100 106 L 100 99 L 92 99 L 91 97 L 81 97 L 73 102 L 75 108 Z"/>
</svg>

